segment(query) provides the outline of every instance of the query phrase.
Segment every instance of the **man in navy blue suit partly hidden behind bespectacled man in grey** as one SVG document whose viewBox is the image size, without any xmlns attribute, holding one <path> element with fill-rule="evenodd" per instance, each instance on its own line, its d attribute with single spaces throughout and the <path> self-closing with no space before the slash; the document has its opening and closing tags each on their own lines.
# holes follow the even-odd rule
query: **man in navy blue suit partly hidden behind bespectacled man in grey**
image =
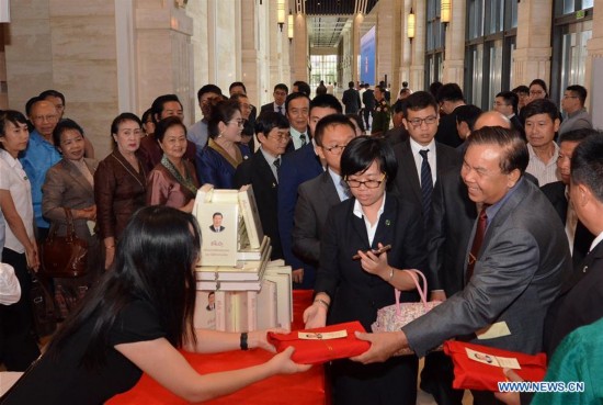
<svg viewBox="0 0 603 405">
<path fill-rule="evenodd" d="M 317 95 L 310 102 L 309 127 L 314 133 L 316 125 L 323 116 L 341 114 L 343 111 L 339 100 L 332 94 Z M 305 266 L 292 250 L 293 217 L 297 203 L 297 188 L 305 181 L 322 173 L 322 162 L 317 156 L 314 142 L 283 157 L 278 171 L 278 233 L 283 245 L 285 262 L 292 267 L 294 288 L 311 289 L 316 270 Z"/>
</svg>

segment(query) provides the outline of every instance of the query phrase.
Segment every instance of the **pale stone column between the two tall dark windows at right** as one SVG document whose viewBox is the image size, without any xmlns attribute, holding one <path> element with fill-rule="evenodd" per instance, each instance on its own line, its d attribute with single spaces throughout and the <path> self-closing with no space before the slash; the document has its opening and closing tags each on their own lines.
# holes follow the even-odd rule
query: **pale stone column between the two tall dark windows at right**
<svg viewBox="0 0 603 405">
<path fill-rule="evenodd" d="M 550 83 L 550 24 L 553 0 L 530 0 L 517 4 L 517 40 L 513 54 L 511 88 L 539 78 Z"/>
</svg>

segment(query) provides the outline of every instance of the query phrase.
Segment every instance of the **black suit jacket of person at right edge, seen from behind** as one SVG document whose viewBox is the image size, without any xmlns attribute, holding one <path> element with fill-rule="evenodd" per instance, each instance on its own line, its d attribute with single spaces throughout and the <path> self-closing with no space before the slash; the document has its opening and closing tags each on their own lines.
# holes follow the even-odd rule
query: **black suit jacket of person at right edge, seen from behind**
<svg viewBox="0 0 603 405">
<path fill-rule="evenodd" d="M 580 326 L 603 317 L 603 244 L 587 256 L 579 271 L 564 283 L 545 320 L 545 350 L 553 355 L 561 340 Z"/>
</svg>

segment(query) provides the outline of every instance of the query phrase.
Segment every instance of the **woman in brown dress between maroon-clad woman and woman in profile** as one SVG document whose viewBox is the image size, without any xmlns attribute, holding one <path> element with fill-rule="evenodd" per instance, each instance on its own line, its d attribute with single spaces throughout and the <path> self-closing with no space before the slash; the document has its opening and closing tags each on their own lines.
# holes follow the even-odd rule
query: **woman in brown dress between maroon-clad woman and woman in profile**
<svg viewBox="0 0 603 405">
<path fill-rule="evenodd" d="M 155 138 L 163 150 L 147 178 L 147 205 L 167 205 L 191 213 L 200 183 L 195 167 L 184 159 L 186 127 L 178 116 L 157 123 Z"/>
</svg>

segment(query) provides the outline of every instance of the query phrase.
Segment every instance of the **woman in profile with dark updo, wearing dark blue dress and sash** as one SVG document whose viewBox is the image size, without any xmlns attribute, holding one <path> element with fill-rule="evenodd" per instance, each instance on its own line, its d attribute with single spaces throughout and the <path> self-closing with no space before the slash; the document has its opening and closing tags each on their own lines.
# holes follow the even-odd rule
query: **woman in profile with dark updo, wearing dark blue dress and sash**
<svg viewBox="0 0 603 405">
<path fill-rule="evenodd" d="M 232 189 L 237 167 L 251 153 L 241 144 L 244 119 L 236 100 L 220 100 L 212 105 L 207 122 L 209 140 L 197 151 L 197 175 L 203 184 L 215 189 Z"/>
</svg>

